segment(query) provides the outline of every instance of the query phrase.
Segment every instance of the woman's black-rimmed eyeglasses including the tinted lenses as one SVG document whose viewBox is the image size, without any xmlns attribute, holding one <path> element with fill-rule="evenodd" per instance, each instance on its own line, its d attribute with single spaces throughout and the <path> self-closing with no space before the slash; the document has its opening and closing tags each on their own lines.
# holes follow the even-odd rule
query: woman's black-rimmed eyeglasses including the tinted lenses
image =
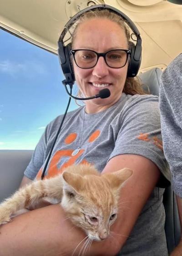
<svg viewBox="0 0 182 256">
<path fill-rule="evenodd" d="M 95 52 L 86 49 L 71 50 L 75 63 L 79 68 L 93 68 L 99 57 L 104 57 L 110 68 L 122 68 L 126 65 L 130 50 L 118 49 L 108 52 Z"/>
</svg>

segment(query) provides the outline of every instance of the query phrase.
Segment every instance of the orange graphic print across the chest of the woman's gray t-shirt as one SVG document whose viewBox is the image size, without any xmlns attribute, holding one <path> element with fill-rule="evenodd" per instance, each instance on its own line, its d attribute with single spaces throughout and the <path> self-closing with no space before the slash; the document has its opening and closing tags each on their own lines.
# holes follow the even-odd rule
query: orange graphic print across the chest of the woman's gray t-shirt
<svg viewBox="0 0 182 256">
<path fill-rule="evenodd" d="M 93 142 L 95 141 L 98 136 L 100 135 L 100 131 L 95 131 L 91 134 L 91 136 L 88 138 L 88 142 Z M 65 139 L 65 144 L 71 144 L 73 141 L 75 141 L 77 138 L 76 133 L 71 133 L 69 134 L 66 139 Z M 81 149 L 75 156 L 72 156 L 71 154 L 73 153 L 75 149 L 65 149 L 65 150 L 58 150 L 54 156 L 51 158 L 51 162 L 49 164 L 48 170 L 47 170 L 47 175 L 44 176 L 44 178 L 52 178 L 59 173 L 62 173 L 63 170 L 74 164 L 76 160 L 85 152 L 84 149 Z M 61 165 L 61 167 L 58 167 L 58 163 L 60 162 L 61 158 L 66 157 L 68 160 Z M 81 161 L 81 163 L 87 163 L 85 159 Z M 36 179 L 40 179 L 42 175 L 43 168 L 40 168 L 39 172 L 37 173 Z"/>
</svg>

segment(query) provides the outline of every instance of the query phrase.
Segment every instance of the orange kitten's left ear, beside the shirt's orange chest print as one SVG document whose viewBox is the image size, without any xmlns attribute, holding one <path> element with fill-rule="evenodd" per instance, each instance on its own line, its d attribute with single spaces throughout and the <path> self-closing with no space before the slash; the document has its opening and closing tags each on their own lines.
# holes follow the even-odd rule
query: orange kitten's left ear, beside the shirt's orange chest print
<svg viewBox="0 0 182 256">
<path fill-rule="evenodd" d="M 70 193 L 79 193 L 84 188 L 84 178 L 77 173 L 63 172 L 63 189 Z"/>
</svg>

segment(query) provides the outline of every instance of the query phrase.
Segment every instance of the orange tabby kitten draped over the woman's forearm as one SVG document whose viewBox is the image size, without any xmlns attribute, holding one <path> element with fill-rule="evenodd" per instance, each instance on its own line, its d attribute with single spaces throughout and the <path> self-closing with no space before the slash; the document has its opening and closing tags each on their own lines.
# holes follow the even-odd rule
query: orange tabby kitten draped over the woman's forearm
<svg viewBox="0 0 182 256">
<path fill-rule="evenodd" d="M 116 220 L 121 185 L 131 174 L 127 168 L 100 174 L 88 164 L 72 165 L 55 178 L 20 188 L 1 203 L 0 225 L 10 222 L 10 216 L 17 210 L 49 197 L 61 202 L 73 224 L 84 230 L 91 240 L 103 240 Z"/>
</svg>

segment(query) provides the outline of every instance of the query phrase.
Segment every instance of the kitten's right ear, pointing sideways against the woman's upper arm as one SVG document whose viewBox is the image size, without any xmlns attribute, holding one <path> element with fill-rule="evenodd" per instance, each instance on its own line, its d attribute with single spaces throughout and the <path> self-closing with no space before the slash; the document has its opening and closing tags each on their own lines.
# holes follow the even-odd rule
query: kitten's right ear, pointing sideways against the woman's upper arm
<svg viewBox="0 0 182 256">
<path fill-rule="evenodd" d="M 132 175 L 133 171 L 128 168 L 116 172 L 102 174 L 110 183 L 112 188 L 121 188 L 121 185 Z"/>
</svg>

